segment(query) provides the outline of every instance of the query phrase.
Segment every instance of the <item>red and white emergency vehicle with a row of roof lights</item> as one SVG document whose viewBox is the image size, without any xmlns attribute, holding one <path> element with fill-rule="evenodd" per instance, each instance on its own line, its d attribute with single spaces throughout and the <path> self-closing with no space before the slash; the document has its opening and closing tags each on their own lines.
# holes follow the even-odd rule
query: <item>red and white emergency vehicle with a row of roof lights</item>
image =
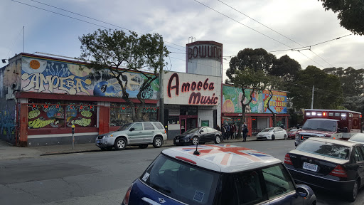
<svg viewBox="0 0 364 205">
<path fill-rule="evenodd" d="M 304 126 L 296 132 L 294 145 L 298 146 L 309 137 L 330 137 L 348 140 L 361 128 L 360 112 L 350 110 L 304 110 Z"/>
</svg>

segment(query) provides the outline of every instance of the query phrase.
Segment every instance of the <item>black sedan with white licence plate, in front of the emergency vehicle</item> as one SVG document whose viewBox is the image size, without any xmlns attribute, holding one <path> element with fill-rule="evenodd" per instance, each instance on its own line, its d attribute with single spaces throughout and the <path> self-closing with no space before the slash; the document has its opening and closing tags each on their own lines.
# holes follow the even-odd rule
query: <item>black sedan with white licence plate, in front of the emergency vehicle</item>
<svg viewBox="0 0 364 205">
<path fill-rule="evenodd" d="M 310 137 L 284 157 L 299 184 L 326 189 L 355 201 L 364 185 L 364 147 L 359 143 Z"/>
</svg>

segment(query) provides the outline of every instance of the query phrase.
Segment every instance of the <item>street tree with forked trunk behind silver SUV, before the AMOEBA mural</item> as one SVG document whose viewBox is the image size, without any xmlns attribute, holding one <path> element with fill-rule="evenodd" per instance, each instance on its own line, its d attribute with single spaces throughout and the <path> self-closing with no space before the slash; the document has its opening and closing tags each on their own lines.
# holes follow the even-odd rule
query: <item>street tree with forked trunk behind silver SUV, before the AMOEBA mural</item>
<svg viewBox="0 0 364 205">
<path fill-rule="evenodd" d="M 86 66 L 94 70 L 94 73 L 104 69 L 112 73 L 112 78 L 115 78 L 122 88 L 122 99 L 132 110 L 133 122 L 142 121 L 141 115 L 145 105 L 142 93 L 158 78 L 159 69 L 166 65 L 164 60 L 160 61 L 159 58 L 161 55 L 167 57 L 169 52 L 164 43 L 159 41 L 160 37 L 158 33 L 148 33 L 139 37 L 134 32 L 127 36 L 124 31 L 98 29 L 79 38 L 82 45 L 80 60 L 85 61 Z M 125 69 L 120 69 L 121 65 Z M 151 72 L 141 70 L 143 68 Z M 123 73 L 128 71 L 144 76 L 144 82 L 137 94 L 139 107 L 134 105 L 127 93 L 128 81 Z"/>
</svg>

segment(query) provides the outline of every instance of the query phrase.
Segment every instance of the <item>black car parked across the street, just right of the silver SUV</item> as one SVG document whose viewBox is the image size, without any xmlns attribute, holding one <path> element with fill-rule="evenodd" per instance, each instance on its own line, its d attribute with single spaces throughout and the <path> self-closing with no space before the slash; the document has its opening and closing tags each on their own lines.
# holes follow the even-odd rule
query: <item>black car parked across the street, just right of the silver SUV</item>
<svg viewBox="0 0 364 205">
<path fill-rule="evenodd" d="M 173 144 L 205 144 L 205 142 L 219 144 L 221 139 L 221 132 L 212 127 L 196 127 L 174 137 Z"/>
</svg>

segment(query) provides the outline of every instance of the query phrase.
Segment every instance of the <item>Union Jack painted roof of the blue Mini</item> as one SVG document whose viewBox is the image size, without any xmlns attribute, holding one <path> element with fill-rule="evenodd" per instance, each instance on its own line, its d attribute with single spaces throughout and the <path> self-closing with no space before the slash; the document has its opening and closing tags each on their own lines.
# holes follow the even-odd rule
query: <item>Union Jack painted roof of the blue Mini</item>
<svg viewBox="0 0 364 205">
<path fill-rule="evenodd" d="M 199 155 L 193 155 L 195 150 L 196 146 L 176 147 L 164 149 L 162 153 L 175 159 L 184 157 L 196 162 L 198 167 L 226 173 L 282 163 L 269 154 L 230 144 L 198 145 Z"/>
</svg>

